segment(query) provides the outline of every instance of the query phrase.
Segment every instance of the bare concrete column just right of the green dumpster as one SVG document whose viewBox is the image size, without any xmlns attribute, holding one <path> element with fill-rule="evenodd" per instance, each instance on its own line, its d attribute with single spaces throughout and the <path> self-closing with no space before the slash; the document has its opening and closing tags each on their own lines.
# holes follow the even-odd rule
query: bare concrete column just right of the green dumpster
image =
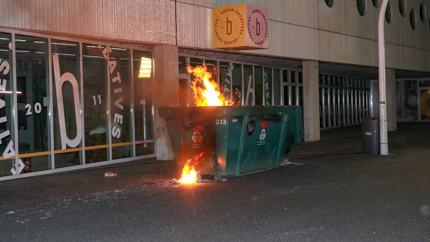
<svg viewBox="0 0 430 242">
<path fill-rule="evenodd" d="M 319 141 L 318 61 L 303 61 L 304 141 Z"/>
</svg>

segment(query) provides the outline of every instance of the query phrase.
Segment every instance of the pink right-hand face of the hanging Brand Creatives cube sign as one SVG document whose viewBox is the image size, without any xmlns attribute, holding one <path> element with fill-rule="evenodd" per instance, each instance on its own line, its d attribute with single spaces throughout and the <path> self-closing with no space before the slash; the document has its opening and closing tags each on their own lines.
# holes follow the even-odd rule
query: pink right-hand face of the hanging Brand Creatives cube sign
<svg viewBox="0 0 430 242">
<path fill-rule="evenodd" d="M 246 4 L 247 46 L 269 48 L 269 9 Z"/>
</svg>

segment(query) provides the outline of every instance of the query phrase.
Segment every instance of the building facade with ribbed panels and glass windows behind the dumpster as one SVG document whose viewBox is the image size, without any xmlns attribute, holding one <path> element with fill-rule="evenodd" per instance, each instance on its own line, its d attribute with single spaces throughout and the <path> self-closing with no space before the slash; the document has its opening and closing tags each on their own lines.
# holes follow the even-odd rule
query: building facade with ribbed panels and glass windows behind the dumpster
<svg viewBox="0 0 430 242">
<path fill-rule="evenodd" d="M 382 0 L 0 2 L 0 180 L 172 159 L 157 107 L 190 106 L 185 67 L 241 105 L 302 105 L 305 139 L 378 115 Z M 269 48 L 212 48 L 212 8 L 269 10 Z M 384 13 L 389 131 L 430 121 L 430 3 Z"/>
</svg>

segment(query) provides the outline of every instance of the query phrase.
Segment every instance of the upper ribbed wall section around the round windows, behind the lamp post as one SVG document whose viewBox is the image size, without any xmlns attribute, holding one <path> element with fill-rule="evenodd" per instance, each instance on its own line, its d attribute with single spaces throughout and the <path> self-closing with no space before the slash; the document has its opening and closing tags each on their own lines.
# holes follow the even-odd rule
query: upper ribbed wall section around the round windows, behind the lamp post
<svg viewBox="0 0 430 242">
<path fill-rule="evenodd" d="M 375 8 L 370 0 L 365 0 L 365 15 L 358 13 L 356 1 L 334 0 L 328 7 L 324 0 L 319 1 L 319 29 L 346 34 L 365 39 L 378 40 L 378 16 L 380 8 Z M 382 2 L 382 0 L 379 0 Z M 424 3 L 427 17 L 424 23 L 419 16 L 420 4 Z M 391 22 L 385 21 L 385 42 L 417 49 L 430 50 L 429 18 L 430 1 L 405 0 L 405 16 L 400 15 L 398 0 L 390 0 Z M 409 12 L 415 9 L 416 28 L 409 23 Z"/>
</svg>

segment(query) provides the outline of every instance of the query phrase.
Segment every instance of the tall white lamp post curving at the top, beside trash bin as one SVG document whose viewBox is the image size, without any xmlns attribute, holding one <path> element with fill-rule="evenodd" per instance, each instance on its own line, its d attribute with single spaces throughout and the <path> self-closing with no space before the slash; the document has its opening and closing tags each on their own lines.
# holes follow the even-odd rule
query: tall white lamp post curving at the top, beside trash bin
<svg viewBox="0 0 430 242">
<path fill-rule="evenodd" d="M 378 64 L 379 64 L 379 135 L 381 155 L 388 154 L 387 106 L 385 104 L 385 37 L 384 17 L 388 0 L 383 0 L 378 19 Z"/>
</svg>

